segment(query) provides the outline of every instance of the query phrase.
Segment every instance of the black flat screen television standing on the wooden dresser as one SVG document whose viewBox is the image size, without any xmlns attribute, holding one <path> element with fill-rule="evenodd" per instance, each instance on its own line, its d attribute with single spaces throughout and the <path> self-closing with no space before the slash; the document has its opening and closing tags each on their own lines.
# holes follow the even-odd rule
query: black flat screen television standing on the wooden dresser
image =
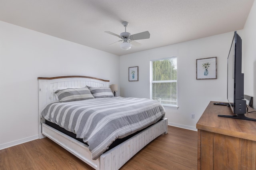
<svg viewBox="0 0 256 170">
<path fill-rule="evenodd" d="M 234 37 L 228 54 L 227 74 L 227 99 L 228 107 L 234 115 L 218 115 L 234 119 L 256 121 L 245 116 L 246 100 L 244 99 L 244 73 L 242 73 L 242 39 L 234 32 Z"/>
</svg>

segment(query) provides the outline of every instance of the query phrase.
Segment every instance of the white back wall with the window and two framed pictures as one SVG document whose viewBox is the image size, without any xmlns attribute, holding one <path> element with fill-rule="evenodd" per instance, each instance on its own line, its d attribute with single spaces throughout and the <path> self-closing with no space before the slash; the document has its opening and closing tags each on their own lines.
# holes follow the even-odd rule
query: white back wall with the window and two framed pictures
<svg viewBox="0 0 256 170">
<path fill-rule="evenodd" d="M 242 36 L 242 30 L 238 31 Z M 178 110 L 166 109 L 169 125 L 196 130 L 210 101 L 226 100 L 227 57 L 234 32 L 120 56 L 120 95 L 150 98 L 150 60 L 177 57 Z M 196 59 L 217 57 L 217 79 L 196 80 Z M 128 67 L 139 67 L 139 81 L 128 81 Z M 195 114 L 195 119 L 191 118 Z"/>
</svg>

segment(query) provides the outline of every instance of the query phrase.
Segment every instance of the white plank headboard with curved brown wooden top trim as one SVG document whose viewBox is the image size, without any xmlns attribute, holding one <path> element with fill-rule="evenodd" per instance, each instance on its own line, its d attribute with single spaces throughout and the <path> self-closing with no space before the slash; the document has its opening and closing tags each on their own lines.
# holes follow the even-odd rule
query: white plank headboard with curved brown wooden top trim
<svg viewBox="0 0 256 170">
<path fill-rule="evenodd" d="M 54 92 L 56 89 L 65 89 L 70 87 L 109 87 L 109 80 L 98 79 L 87 76 L 61 76 L 61 77 L 38 77 L 38 112 L 39 128 L 40 113 L 47 103 L 56 101 Z M 41 129 L 39 129 L 40 131 Z M 39 132 L 40 136 L 40 132 Z"/>
</svg>

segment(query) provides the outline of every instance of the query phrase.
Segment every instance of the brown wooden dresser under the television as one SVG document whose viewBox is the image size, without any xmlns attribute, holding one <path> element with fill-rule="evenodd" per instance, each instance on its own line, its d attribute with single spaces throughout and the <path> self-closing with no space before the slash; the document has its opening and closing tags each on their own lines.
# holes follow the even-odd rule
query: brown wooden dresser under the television
<svg viewBox="0 0 256 170">
<path fill-rule="evenodd" d="M 196 124 L 198 170 L 256 170 L 256 122 L 218 117 L 233 114 L 229 107 L 213 103 Z M 246 117 L 256 119 L 256 112 Z"/>
</svg>

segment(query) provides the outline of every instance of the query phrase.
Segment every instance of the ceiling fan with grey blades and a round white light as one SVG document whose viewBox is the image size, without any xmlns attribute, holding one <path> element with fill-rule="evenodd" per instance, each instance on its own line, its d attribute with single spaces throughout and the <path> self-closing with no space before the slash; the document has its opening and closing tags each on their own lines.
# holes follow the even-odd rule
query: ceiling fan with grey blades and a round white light
<svg viewBox="0 0 256 170">
<path fill-rule="evenodd" d="M 131 48 L 132 45 L 141 45 L 141 43 L 136 42 L 134 40 L 142 40 L 142 39 L 150 38 L 150 34 L 148 31 L 131 35 L 130 32 L 126 32 L 126 27 L 129 25 L 129 22 L 125 21 L 125 22 L 122 22 L 122 24 L 125 27 L 125 32 L 122 32 L 120 34 L 120 36 L 118 34 L 115 34 L 115 33 L 109 32 L 109 31 L 105 31 L 108 34 L 117 36 L 122 39 L 122 40 L 118 41 L 118 42 L 122 42 L 120 44 L 121 49 L 128 50 Z M 116 42 L 114 42 L 114 43 L 116 43 Z M 112 43 L 112 44 L 114 44 L 114 43 Z M 110 45 L 112 45 L 112 44 L 110 44 Z"/>
</svg>

